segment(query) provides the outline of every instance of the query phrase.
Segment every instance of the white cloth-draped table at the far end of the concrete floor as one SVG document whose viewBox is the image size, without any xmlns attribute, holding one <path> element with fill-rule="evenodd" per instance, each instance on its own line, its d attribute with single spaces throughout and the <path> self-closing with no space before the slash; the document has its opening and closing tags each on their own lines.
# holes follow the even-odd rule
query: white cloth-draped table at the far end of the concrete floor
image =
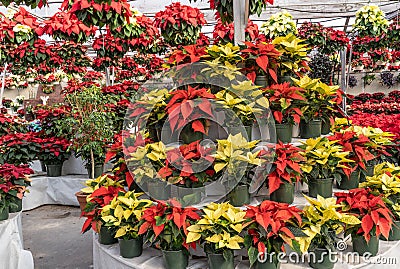
<svg viewBox="0 0 400 269">
<path fill-rule="evenodd" d="M 46 204 L 79 206 L 75 193 L 84 187 L 87 175 L 33 176 L 30 179 L 32 186 L 22 200 L 23 210 Z"/>
</svg>

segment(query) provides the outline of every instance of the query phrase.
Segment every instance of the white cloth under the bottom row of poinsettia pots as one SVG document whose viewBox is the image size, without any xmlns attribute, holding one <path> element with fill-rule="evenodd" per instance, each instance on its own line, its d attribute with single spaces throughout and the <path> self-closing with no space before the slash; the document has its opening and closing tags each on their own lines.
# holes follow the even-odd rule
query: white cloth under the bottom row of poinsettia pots
<svg viewBox="0 0 400 269">
<path fill-rule="evenodd" d="M 379 241 L 379 253 L 374 259 L 377 258 L 391 258 L 392 264 L 377 264 L 377 263 L 365 263 L 360 260 L 357 264 L 347 264 L 342 263 L 340 260 L 335 264 L 334 269 L 397 269 L 400 264 L 400 242 L 386 242 Z M 349 242 L 349 250 L 351 250 L 351 243 Z M 242 252 L 241 250 L 240 252 Z M 240 252 L 237 252 L 235 259 L 235 269 L 248 269 L 249 262 L 241 261 Z M 238 255 L 239 254 L 239 255 Z M 289 255 L 289 253 L 288 253 Z M 340 255 L 339 255 L 340 258 Z M 362 258 L 361 258 L 362 259 Z M 395 264 L 393 264 L 393 259 L 395 259 Z M 287 258 L 288 260 L 288 258 Z M 371 258 L 372 260 L 372 258 Z M 98 242 L 98 236 L 94 234 L 93 236 L 93 266 L 95 269 L 161 269 L 164 268 L 162 253 L 154 248 L 144 248 L 143 254 L 140 257 L 133 259 L 125 259 L 119 255 L 118 244 L 114 245 L 101 245 Z M 206 258 L 201 259 L 189 259 L 188 269 L 205 269 L 208 268 Z M 281 269 L 300 269 L 300 268 L 310 268 L 307 263 L 281 263 Z"/>
</svg>

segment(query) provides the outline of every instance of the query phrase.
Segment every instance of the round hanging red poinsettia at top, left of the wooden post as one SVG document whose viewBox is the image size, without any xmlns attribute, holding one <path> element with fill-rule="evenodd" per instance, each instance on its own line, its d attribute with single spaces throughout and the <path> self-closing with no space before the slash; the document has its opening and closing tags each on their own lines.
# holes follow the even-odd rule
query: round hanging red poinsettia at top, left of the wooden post
<svg viewBox="0 0 400 269">
<path fill-rule="evenodd" d="M 179 2 L 155 15 L 155 26 L 161 29 L 165 42 L 174 47 L 195 44 L 205 23 L 204 14 L 198 8 Z"/>
</svg>

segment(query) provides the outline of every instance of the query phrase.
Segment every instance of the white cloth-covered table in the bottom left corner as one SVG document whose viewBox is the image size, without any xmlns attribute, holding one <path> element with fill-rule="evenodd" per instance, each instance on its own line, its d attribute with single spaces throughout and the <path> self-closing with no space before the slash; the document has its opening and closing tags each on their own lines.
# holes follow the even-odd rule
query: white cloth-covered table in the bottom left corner
<svg viewBox="0 0 400 269">
<path fill-rule="evenodd" d="M 0 268 L 34 268 L 32 253 L 23 249 L 21 212 L 0 221 Z"/>
</svg>

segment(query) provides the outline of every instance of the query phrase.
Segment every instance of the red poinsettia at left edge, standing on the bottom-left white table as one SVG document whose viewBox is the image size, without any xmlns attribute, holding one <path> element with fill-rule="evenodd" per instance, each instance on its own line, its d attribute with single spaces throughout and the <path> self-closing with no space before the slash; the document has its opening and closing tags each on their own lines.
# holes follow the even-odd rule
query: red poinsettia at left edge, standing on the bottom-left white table
<svg viewBox="0 0 400 269">
<path fill-rule="evenodd" d="M 28 165 L 0 165 L 0 220 L 8 218 L 8 213 L 22 210 L 22 198 L 30 186 L 28 175 L 33 170 Z"/>
</svg>

